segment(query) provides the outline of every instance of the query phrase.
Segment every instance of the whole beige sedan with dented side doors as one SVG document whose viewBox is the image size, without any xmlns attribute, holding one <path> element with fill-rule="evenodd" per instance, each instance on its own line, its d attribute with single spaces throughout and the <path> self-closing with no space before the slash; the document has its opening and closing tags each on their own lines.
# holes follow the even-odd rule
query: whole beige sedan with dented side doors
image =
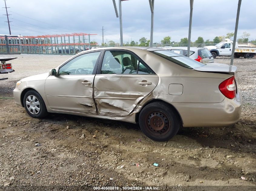
<svg viewBox="0 0 256 191">
<path fill-rule="evenodd" d="M 236 123 L 242 105 L 236 82 L 236 66 L 159 48 L 114 47 L 81 52 L 23 78 L 13 94 L 35 118 L 50 112 L 139 123 L 149 138 L 166 141 L 181 126 Z"/>
</svg>

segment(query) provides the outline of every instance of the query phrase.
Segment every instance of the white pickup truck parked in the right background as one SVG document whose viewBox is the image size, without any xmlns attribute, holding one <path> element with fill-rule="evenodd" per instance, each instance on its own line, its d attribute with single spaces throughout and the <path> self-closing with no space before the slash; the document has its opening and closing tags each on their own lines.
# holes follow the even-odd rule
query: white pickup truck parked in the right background
<svg viewBox="0 0 256 191">
<path fill-rule="evenodd" d="M 215 46 L 204 46 L 210 52 L 213 58 L 216 56 L 231 56 L 233 41 L 230 39 L 225 39 Z M 256 45 L 251 43 L 235 44 L 234 58 L 244 57 L 244 58 L 253 58 L 256 55 Z"/>
</svg>

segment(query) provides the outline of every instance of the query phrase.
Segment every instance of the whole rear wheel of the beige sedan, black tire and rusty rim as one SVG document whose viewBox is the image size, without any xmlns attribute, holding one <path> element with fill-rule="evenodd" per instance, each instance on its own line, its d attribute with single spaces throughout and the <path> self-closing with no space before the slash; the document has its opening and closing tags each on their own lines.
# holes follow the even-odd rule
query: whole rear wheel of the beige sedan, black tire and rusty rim
<svg viewBox="0 0 256 191">
<path fill-rule="evenodd" d="M 148 138 L 154 141 L 168 141 L 178 132 L 180 120 L 168 104 L 154 102 L 141 110 L 139 125 Z"/>
</svg>

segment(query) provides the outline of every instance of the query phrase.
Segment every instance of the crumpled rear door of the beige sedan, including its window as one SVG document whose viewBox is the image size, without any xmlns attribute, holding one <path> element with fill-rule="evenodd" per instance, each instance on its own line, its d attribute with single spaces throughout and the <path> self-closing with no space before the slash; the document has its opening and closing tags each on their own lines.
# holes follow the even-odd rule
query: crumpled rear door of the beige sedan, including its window
<svg viewBox="0 0 256 191">
<path fill-rule="evenodd" d="M 129 115 L 158 80 L 158 75 L 131 51 L 105 50 L 94 80 L 98 114 Z"/>
</svg>

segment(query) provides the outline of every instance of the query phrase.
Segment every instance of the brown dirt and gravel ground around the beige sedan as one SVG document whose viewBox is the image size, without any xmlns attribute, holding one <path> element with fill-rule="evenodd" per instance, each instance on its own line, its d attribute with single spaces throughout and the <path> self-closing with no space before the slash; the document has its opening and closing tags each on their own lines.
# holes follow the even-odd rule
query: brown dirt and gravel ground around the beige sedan
<svg viewBox="0 0 256 191">
<path fill-rule="evenodd" d="M 0 81 L 0 190 L 256 189 L 256 58 L 234 59 L 243 98 L 234 127 L 184 128 L 168 142 L 155 142 L 131 123 L 65 114 L 31 118 L 12 99 L 15 83 L 70 56 L 7 56 L 18 59 L 12 61 L 15 72 L 0 76 L 9 78 Z"/>
</svg>

